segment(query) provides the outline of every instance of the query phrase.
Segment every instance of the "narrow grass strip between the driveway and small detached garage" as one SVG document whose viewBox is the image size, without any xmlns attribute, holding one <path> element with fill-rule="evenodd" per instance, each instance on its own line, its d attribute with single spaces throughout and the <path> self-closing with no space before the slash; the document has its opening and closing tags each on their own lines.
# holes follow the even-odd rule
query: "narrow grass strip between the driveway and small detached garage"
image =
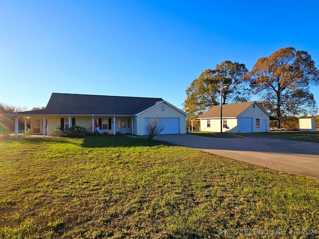
<svg viewBox="0 0 319 239">
<path fill-rule="evenodd" d="M 216 133 L 216 132 L 192 132 L 191 134 L 205 136 L 205 137 L 266 137 L 266 138 L 278 138 L 286 140 L 296 140 L 311 143 L 319 143 L 319 132 L 262 132 L 262 133 Z"/>
</svg>

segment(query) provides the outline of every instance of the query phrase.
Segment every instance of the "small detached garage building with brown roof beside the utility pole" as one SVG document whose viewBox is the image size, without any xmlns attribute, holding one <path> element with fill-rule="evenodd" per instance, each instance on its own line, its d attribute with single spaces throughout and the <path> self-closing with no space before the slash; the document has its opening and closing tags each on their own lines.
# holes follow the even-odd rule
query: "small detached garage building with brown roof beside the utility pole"
<svg viewBox="0 0 319 239">
<path fill-rule="evenodd" d="M 251 133 L 269 132 L 269 120 L 281 120 L 271 116 L 256 101 L 213 106 L 196 119 L 200 121 L 200 131 Z M 221 120 L 222 119 L 222 120 Z"/>
</svg>

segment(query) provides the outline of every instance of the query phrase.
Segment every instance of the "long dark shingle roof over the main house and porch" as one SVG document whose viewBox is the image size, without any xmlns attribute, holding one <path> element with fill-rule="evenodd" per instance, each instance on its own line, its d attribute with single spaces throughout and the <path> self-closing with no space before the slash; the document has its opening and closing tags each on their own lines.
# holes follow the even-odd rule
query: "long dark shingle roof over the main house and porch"
<svg viewBox="0 0 319 239">
<path fill-rule="evenodd" d="M 17 115 L 135 115 L 162 101 L 161 98 L 52 93 L 44 110 Z"/>
</svg>

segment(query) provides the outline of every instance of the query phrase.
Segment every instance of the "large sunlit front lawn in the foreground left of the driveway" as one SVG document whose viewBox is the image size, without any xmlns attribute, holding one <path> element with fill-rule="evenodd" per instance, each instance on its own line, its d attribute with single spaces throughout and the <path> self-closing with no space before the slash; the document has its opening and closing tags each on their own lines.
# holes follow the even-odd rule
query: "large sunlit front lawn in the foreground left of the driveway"
<svg viewBox="0 0 319 239">
<path fill-rule="evenodd" d="M 318 236 L 313 179 L 123 135 L 2 138 L 0 152 L 0 239 Z"/>
</svg>

